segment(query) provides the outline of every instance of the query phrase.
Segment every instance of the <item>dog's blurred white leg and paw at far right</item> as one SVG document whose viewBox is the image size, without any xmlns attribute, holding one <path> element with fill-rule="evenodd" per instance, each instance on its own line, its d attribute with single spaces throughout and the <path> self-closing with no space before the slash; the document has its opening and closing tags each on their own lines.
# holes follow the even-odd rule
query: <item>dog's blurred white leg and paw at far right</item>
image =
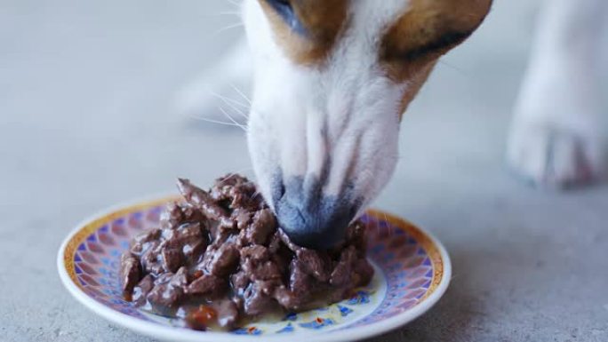
<svg viewBox="0 0 608 342">
<path fill-rule="evenodd" d="M 516 105 L 508 162 L 539 185 L 604 176 L 597 68 L 605 0 L 551 0 Z"/>
</svg>

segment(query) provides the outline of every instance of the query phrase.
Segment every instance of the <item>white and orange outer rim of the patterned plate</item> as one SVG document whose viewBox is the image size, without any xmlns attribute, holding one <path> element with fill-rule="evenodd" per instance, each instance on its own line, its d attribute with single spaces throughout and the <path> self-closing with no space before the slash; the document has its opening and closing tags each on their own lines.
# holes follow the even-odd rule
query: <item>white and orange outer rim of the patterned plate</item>
<svg viewBox="0 0 608 342">
<path fill-rule="evenodd" d="M 140 334 L 151 338 L 159 338 L 162 340 L 177 339 L 180 341 L 188 342 L 252 341 L 256 337 L 235 336 L 223 332 L 214 331 L 201 333 L 200 331 L 179 329 L 175 327 L 160 325 L 155 322 L 147 322 L 132 317 L 128 314 L 123 314 L 108 306 L 104 306 L 100 302 L 89 297 L 89 295 L 87 295 L 84 290 L 80 289 L 76 285 L 75 278 L 73 278 L 76 277 L 76 275 L 69 274 L 70 266 L 72 266 L 71 269 L 74 270 L 74 261 L 73 253 L 69 254 L 68 251 L 76 251 L 76 248 L 84 240 L 84 238 L 94 232 L 95 228 L 99 227 L 99 222 L 105 222 L 116 217 L 121 217 L 125 213 L 154 207 L 156 205 L 167 203 L 178 198 L 179 197 L 177 195 L 148 196 L 140 200 L 134 200 L 126 203 L 113 205 L 108 209 L 99 211 L 98 213 L 78 223 L 76 227 L 73 228 L 68 234 L 68 236 L 63 240 L 57 254 L 57 268 L 63 286 L 74 298 L 76 298 L 78 302 L 87 307 L 94 314 L 99 314 L 101 317 L 103 317 L 109 322 L 113 322 L 116 325 L 137 331 Z M 290 342 L 309 342 L 311 336 L 314 336 L 315 342 L 356 341 L 364 338 L 372 338 L 388 331 L 396 330 L 404 324 L 412 322 L 414 319 L 420 317 L 420 315 L 425 314 L 428 309 L 434 306 L 436 302 L 443 297 L 445 290 L 447 290 L 452 279 L 452 262 L 450 260 L 450 256 L 444 248 L 444 245 L 439 242 L 439 240 L 437 240 L 436 237 L 429 233 L 427 230 L 413 225 L 406 219 L 401 219 L 396 215 L 389 214 L 385 211 L 372 209 L 366 212 L 372 214 L 372 216 L 375 217 L 381 215 L 383 219 L 385 219 L 396 227 L 412 227 L 414 232 L 416 233 L 416 239 L 419 240 L 423 247 L 427 249 L 428 256 L 429 258 L 431 258 L 432 263 L 438 263 L 442 265 L 443 270 L 435 270 L 435 273 L 433 274 L 432 283 L 428 289 L 428 293 L 423 298 L 420 298 L 419 304 L 404 311 L 403 313 L 396 314 L 395 316 L 387 318 L 383 321 L 374 322 L 366 326 L 347 328 L 345 330 L 330 330 L 312 335 L 292 335 L 288 337 Z M 428 249 L 428 247 L 430 247 L 430 249 Z M 264 341 L 268 342 L 284 341 L 285 338 L 286 337 L 284 336 L 263 337 Z"/>
</svg>

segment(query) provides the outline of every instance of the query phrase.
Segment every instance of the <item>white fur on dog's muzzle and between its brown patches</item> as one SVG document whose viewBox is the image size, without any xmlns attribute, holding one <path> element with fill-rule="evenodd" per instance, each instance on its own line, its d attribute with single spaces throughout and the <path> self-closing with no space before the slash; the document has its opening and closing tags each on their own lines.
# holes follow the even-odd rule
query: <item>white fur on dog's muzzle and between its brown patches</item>
<svg viewBox="0 0 608 342">
<path fill-rule="evenodd" d="M 382 29 L 406 0 L 352 2 L 352 21 L 324 68 L 302 67 L 273 39 L 256 0 L 245 0 L 244 23 L 255 65 L 249 147 L 262 195 L 277 171 L 318 179 L 329 166 L 325 195 L 345 187 L 367 201 L 395 169 L 398 107 L 404 86 L 380 70 Z"/>
</svg>

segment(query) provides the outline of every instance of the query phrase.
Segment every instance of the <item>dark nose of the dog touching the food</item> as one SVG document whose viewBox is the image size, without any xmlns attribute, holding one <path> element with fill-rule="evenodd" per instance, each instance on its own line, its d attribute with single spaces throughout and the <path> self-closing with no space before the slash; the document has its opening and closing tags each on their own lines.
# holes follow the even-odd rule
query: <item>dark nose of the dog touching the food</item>
<svg viewBox="0 0 608 342">
<path fill-rule="evenodd" d="M 348 195 L 324 195 L 316 180 L 289 179 L 274 195 L 276 217 L 293 243 L 324 250 L 340 243 L 358 206 Z"/>
</svg>

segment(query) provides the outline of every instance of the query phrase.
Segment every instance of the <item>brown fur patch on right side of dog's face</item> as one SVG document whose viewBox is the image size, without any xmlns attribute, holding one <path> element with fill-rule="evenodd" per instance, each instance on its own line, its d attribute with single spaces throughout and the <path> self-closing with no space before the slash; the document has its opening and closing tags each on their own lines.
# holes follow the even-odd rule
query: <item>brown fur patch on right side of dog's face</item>
<svg viewBox="0 0 608 342">
<path fill-rule="evenodd" d="M 380 60 L 396 82 L 462 43 L 481 25 L 492 0 L 412 0 L 380 45 Z"/>
</svg>

